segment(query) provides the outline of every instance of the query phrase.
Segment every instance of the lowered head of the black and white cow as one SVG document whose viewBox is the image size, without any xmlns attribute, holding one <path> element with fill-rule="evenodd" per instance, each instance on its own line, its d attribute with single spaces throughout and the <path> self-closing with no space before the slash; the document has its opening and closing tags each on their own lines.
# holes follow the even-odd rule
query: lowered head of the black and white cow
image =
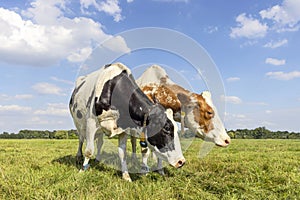
<svg viewBox="0 0 300 200">
<path fill-rule="evenodd" d="M 171 109 L 154 105 L 149 113 L 147 141 L 152 150 L 175 168 L 185 163 L 178 137 L 178 127 L 173 120 Z"/>
</svg>

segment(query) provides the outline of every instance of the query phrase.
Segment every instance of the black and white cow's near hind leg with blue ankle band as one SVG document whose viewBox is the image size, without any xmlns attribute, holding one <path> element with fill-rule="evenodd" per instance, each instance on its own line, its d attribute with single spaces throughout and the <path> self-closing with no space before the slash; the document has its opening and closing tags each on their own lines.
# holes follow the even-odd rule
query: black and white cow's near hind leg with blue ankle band
<svg viewBox="0 0 300 200">
<path fill-rule="evenodd" d="M 96 121 L 94 119 L 87 119 L 87 126 L 86 126 L 86 148 L 84 152 L 84 162 L 82 165 L 82 170 L 85 171 L 89 169 L 89 160 L 94 155 L 94 139 L 95 139 L 95 133 L 97 130 L 96 127 Z M 82 171 L 81 170 L 81 171 Z"/>
</svg>

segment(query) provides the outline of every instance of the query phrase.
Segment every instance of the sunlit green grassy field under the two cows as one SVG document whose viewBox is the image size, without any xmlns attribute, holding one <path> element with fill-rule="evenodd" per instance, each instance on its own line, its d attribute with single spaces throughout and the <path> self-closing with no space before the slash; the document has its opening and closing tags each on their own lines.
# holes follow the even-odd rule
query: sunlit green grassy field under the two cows
<svg viewBox="0 0 300 200">
<path fill-rule="evenodd" d="M 0 199 L 299 199 L 300 140 L 233 140 L 166 176 L 132 174 L 105 164 L 78 173 L 77 140 L 0 140 Z"/>
</svg>

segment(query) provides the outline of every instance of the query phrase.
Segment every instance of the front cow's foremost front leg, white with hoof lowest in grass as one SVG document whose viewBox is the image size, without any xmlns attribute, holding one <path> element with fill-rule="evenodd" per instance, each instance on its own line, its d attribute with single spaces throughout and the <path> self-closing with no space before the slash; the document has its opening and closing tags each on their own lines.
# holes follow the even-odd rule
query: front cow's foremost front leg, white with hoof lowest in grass
<svg viewBox="0 0 300 200">
<path fill-rule="evenodd" d="M 127 134 L 122 133 L 119 135 L 119 157 L 121 161 L 121 170 L 122 177 L 124 180 L 131 182 L 131 178 L 128 173 L 127 163 L 126 163 L 126 142 L 127 142 Z"/>
</svg>

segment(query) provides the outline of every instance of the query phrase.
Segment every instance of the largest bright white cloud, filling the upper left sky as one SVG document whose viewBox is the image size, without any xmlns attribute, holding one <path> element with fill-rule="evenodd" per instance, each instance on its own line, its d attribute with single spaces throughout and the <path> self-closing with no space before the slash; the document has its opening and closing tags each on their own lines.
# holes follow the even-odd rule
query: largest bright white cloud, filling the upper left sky
<svg viewBox="0 0 300 200">
<path fill-rule="evenodd" d="M 82 62 L 94 47 L 111 37 L 92 19 L 65 17 L 65 9 L 64 0 L 36 0 L 22 12 L 23 16 L 0 8 L 1 61 L 34 66 L 49 66 L 61 60 Z M 122 42 L 124 49 L 126 42 Z M 117 46 L 115 49 L 122 51 Z"/>
</svg>

